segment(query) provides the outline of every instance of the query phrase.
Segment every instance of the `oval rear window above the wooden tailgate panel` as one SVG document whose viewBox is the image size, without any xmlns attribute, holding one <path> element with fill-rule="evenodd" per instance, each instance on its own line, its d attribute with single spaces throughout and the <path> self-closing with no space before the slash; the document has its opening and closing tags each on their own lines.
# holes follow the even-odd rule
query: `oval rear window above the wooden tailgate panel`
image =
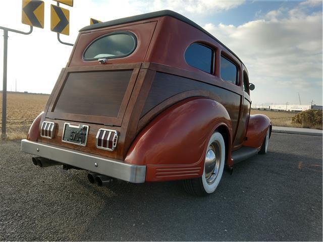
<svg viewBox="0 0 323 242">
<path fill-rule="evenodd" d="M 98 58 L 121 58 L 130 55 L 136 48 L 137 39 L 130 32 L 110 33 L 95 39 L 85 49 L 84 61 L 95 61 Z"/>
</svg>

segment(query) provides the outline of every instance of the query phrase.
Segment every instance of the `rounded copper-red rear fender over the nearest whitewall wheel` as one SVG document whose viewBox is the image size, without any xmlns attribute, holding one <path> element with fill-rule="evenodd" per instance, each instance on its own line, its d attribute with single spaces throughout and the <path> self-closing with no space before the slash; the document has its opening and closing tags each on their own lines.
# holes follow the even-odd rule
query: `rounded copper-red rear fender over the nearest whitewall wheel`
<svg viewBox="0 0 323 242">
<path fill-rule="evenodd" d="M 185 99 L 161 112 L 139 133 L 125 162 L 146 165 L 146 180 L 198 177 L 203 173 L 208 139 L 219 126 L 226 127 L 231 150 L 231 120 L 225 107 L 205 97 Z"/>
</svg>

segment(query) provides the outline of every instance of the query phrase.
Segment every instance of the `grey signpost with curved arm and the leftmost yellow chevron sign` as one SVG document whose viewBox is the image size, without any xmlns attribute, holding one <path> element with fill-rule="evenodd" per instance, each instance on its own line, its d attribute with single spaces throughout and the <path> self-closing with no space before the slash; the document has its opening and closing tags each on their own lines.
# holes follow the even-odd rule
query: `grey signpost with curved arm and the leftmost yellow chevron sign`
<svg viewBox="0 0 323 242">
<path fill-rule="evenodd" d="M 4 73 L 3 73 L 3 91 L 2 91 L 2 127 L 1 138 L 6 139 L 7 128 L 7 61 L 8 61 L 8 32 L 18 34 L 31 34 L 33 26 L 44 28 L 44 2 L 39 0 L 23 0 L 22 1 L 22 18 L 21 22 L 30 26 L 29 32 L 23 32 L 16 29 L 10 29 L 0 26 L 4 31 Z"/>
</svg>

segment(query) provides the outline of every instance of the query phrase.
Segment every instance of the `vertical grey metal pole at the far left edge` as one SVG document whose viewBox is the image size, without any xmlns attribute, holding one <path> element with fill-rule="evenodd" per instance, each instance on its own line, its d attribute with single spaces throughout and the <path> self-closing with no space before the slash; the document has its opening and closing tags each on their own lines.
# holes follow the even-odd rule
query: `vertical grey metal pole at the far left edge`
<svg viewBox="0 0 323 242">
<path fill-rule="evenodd" d="M 2 129 L 1 138 L 6 139 L 6 119 L 7 119 L 7 53 L 8 53 L 8 30 L 4 29 L 4 78 L 2 91 Z"/>
</svg>

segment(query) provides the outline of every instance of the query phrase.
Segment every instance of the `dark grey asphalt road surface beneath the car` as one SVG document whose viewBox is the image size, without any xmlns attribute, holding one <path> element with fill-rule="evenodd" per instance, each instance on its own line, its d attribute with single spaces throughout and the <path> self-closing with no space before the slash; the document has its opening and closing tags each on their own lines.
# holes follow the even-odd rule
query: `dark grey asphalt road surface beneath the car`
<svg viewBox="0 0 323 242">
<path fill-rule="evenodd" d="M 18 141 L 0 152 L 0 240 L 322 241 L 322 137 L 275 133 L 198 198 L 180 182 L 99 188 L 34 166 Z"/>
</svg>

